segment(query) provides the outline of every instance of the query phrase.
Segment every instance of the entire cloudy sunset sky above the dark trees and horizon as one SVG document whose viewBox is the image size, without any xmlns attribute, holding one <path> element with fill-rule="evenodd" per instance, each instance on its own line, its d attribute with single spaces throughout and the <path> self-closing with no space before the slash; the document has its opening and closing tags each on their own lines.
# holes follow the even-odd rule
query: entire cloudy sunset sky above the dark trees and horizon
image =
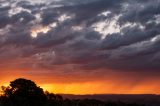
<svg viewBox="0 0 160 106">
<path fill-rule="evenodd" d="M 160 0 L 0 0 L 0 85 L 160 94 Z"/>
</svg>

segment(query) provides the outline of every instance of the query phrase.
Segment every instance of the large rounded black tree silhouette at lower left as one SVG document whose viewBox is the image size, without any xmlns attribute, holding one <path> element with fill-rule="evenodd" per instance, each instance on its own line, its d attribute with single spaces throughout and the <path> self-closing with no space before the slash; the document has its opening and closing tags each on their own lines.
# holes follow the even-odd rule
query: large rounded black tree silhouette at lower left
<svg viewBox="0 0 160 106">
<path fill-rule="evenodd" d="M 38 87 L 33 81 L 19 78 L 10 82 L 10 86 L 3 87 L 4 104 L 12 106 L 44 106 L 46 95 L 43 89 Z"/>
</svg>

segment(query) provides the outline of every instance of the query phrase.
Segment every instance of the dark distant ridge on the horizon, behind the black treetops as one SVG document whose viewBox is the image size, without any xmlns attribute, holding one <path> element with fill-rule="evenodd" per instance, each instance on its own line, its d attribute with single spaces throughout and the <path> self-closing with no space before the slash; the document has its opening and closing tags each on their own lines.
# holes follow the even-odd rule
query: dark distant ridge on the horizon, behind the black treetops
<svg viewBox="0 0 160 106">
<path fill-rule="evenodd" d="M 101 101 L 122 101 L 127 103 L 141 103 L 147 106 L 160 106 L 160 95 L 158 94 L 91 94 L 73 95 L 61 94 L 68 99 L 97 99 Z"/>
</svg>

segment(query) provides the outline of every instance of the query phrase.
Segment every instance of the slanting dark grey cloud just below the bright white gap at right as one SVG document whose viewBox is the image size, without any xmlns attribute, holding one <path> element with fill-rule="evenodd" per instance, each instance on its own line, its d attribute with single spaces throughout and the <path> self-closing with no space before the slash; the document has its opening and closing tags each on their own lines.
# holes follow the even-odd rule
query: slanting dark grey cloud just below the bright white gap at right
<svg viewBox="0 0 160 106">
<path fill-rule="evenodd" d="M 155 37 L 160 33 L 159 25 L 153 28 L 142 30 L 135 26 L 133 28 L 127 27 L 122 30 L 121 33 L 114 33 L 107 35 L 102 42 L 102 49 L 116 49 L 121 46 L 131 45 L 138 43 L 152 37 Z"/>
</svg>

